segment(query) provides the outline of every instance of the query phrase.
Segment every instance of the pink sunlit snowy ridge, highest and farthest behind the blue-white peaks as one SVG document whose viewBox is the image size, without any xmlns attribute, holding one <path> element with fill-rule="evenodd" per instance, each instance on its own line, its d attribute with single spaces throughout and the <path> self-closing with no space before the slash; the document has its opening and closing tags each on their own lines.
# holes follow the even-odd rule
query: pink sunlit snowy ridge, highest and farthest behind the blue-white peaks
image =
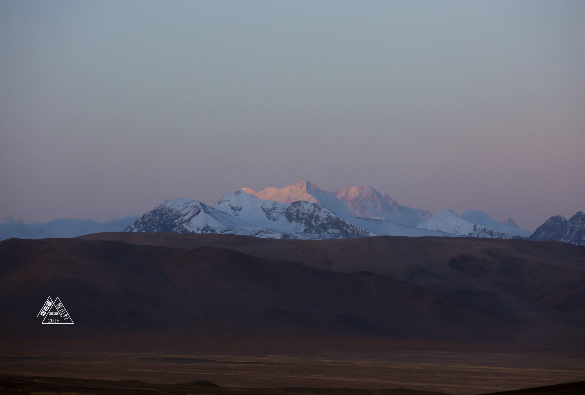
<svg viewBox="0 0 585 395">
<path fill-rule="evenodd" d="M 397 224 L 417 226 L 431 218 L 431 212 L 401 206 L 387 194 L 381 194 L 371 187 L 351 187 L 342 191 L 325 191 L 305 180 L 284 188 L 266 188 L 243 191 L 262 200 L 291 203 L 309 201 L 328 208 L 338 215 L 352 217 L 384 219 Z"/>
</svg>

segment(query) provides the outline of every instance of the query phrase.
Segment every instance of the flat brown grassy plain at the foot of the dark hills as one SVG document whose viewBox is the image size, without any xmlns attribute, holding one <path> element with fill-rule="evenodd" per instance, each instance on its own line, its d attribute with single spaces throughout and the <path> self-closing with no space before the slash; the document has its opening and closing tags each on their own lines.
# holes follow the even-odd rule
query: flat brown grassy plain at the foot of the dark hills
<svg viewBox="0 0 585 395">
<path fill-rule="evenodd" d="M 260 345 L 258 349 L 262 348 Z M 481 394 L 583 380 L 585 358 L 535 350 L 332 353 L 313 348 L 312 352 L 296 355 L 5 350 L 0 356 L 0 370 L 5 375 L 159 384 L 208 380 L 238 388 L 403 388 Z"/>
</svg>

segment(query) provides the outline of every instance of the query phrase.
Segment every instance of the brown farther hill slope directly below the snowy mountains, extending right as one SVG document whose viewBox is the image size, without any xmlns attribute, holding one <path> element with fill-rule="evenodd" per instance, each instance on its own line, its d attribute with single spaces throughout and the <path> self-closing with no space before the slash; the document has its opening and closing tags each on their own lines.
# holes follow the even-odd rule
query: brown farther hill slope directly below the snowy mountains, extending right
<svg viewBox="0 0 585 395">
<path fill-rule="evenodd" d="M 522 342 L 585 343 L 585 248 L 580 246 L 391 236 L 277 241 L 238 235 L 98 233 L 83 238 L 177 249 L 213 246 L 319 270 L 366 271 L 535 322 L 537 326 L 519 338 Z"/>
</svg>

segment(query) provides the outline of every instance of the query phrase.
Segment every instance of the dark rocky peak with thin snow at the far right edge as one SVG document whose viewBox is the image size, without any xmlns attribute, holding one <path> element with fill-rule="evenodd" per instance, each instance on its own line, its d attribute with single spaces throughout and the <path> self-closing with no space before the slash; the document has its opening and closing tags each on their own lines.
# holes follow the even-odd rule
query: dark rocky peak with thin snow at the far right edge
<svg viewBox="0 0 585 395">
<path fill-rule="evenodd" d="M 583 211 L 579 211 L 569 221 L 562 215 L 550 217 L 528 239 L 535 241 L 556 240 L 585 246 L 585 214 Z"/>
</svg>

